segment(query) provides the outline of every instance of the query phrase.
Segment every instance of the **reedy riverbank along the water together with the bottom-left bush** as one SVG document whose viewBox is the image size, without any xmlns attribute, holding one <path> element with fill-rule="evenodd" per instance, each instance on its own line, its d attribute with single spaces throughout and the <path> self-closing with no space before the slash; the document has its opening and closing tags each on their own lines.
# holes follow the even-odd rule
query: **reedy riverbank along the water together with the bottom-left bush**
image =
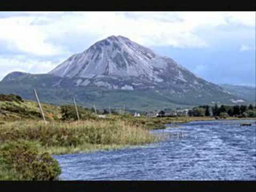
<svg viewBox="0 0 256 192">
<path fill-rule="evenodd" d="M 162 139 L 150 134 L 150 130 L 164 129 L 164 125 L 171 123 L 211 120 L 214 118 L 138 118 L 123 115 L 79 122 L 50 121 L 46 124 L 33 120 L 2 122 L 0 180 L 55 180 L 60 174 L 60 167 L 50 155 L 90 153 L 145 145 Z M 21 149 L 17 151 L 15 146 L 20 146 Z M 19 156 L 22 159 L 16 155 L 17 152 L 21 153 Z M 31 157 L 34 159 L 33 162 L 28 161 Z M 47 165 L 42 163 L 44 161 Z M 42 166 L 45 168 L 42 169 Z M 39 171 L 42 174 L 37 174 L 38 169 L 42 169 Z M 50 175 L 47 174 L 49 171 Z"/>
</svg>

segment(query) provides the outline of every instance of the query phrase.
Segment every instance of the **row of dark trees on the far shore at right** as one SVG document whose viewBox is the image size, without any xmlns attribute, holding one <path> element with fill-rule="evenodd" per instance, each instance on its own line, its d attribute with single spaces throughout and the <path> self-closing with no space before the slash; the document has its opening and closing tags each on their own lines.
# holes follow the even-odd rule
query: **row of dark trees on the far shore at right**
<svg viewBox="0 0 256 192">
<path fill-rule="evenodd" d="M 203 105 L 194 107 L 188 111 L 189 116 L 219 116 L 219 117 L 256 117 L 256 105 Z"/>
</svg>

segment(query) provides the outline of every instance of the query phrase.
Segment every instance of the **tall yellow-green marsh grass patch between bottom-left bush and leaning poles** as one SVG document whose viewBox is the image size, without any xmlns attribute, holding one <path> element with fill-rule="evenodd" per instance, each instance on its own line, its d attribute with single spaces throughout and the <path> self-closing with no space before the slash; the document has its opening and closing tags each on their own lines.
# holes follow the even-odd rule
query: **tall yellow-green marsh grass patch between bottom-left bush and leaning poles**
<svg viewBox="0 0 256 192">
<path fill-rule="evenodd" d="M 51 154 L 75 153 L 99 149 L 143 145 L 159 140 L 143 127 L 122 120 L 81 122 L 20 121 L 0 125 L 0 143 L 37 141 Z"/>
</svg>

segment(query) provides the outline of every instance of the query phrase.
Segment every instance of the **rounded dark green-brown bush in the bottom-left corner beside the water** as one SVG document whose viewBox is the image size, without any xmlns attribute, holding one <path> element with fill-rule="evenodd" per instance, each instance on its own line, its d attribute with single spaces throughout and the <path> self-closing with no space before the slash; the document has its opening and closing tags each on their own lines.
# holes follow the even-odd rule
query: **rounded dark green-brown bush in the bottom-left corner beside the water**
<svg viewBox="0 0 256 192">
<path fill-rule="evenodd" d="M 35 143 L 9 141 L 1 147 L 1 180 L 56 180 L 60 173 L 58 162 L 49 153 L 39 154 Z"/>
</svg>

